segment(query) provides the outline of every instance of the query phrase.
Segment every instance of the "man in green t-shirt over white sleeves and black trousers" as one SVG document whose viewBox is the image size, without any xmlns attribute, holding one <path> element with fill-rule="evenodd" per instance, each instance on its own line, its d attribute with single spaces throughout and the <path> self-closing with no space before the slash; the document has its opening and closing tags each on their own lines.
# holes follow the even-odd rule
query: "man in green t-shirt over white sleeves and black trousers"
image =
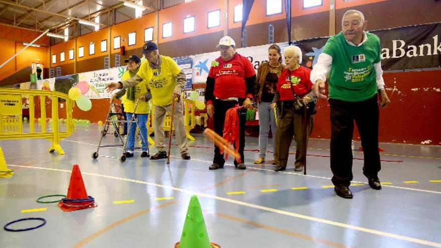
<svg viewBox="0 0 441 248">
<path fill-rule="evenodd" d="M 378 152 L 379 105 L 390 101 L 384 91 L 381 47 L 377 36 L 365 32 L 363 13 L 349 10 L 343 15 L 342 32 L 332 36 L 311 72 L 313 91 L 326 99 L 328 76 L 331 106 L 331 170 L 337 195 L 352 198 L 351 141 L 354 120 L 360 132 L 364 152 L 363 174 L 371 188 L 381 189 Z"/>
</svg>

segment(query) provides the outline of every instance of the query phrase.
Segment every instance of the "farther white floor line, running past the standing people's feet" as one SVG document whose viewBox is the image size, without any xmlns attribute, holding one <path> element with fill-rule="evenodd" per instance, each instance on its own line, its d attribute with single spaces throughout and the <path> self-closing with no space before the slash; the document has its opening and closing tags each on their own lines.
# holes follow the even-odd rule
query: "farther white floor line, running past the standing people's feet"
<svg viewBox="0 0 441 248">
<path fill-rule="evenodd" d="M 80 144 L 85 144 L 85 145 L 98 146 L 97 144 L 85 143 L 85 142 L 75 141 L 75 140 L 66 140 L 66 139 L 64 139 L 64 141 L 75 142 L 75 143 L 80 143 Z M 107 147 L 107 148 L 114 148 L 114 149 L 122 150 L 122 148 L 117 148 L 117 147 Z M 170 157 L 180 158 L 180 157 L 175 157 L 175 156 L 170 156 Z M 206 160 L 195 159 L 195 158 L 191 158 L 191 160 L 192 161 L 204 162 L 204 163 L 208 163 L 208 164 L 212 163 L 212 161 L 206 161 Z M 227 164 L 227 163 L 225 165 L 227 165 L 227 166 L 235 166 L 234 164 Z M 247 167 L 247 169 L 262 170 L 262 171 L 268 171 L 268 172 L 273 172 L 273 173 L 285 173 L 285 174 L 296 175 L 296 176 L 305 176 L 305 177 L 313 177 L 313 178 L 320 178 L 320 179 L 331 180 L 330 177 L 315 176 L 315 175 L 304 175 L 304 174 L 301 174 L 301 173 L 295 173 L 295 172 L 289 172 L 289 171 L 275 172 L 274 170 L 263 169 L 263 168 L 256 168 L 256 167 Z M 365 183 L 365 184 L 368 184 L 368 182 L 362 182 L 362 181 L 351 181 L 351 182 L 352 183 Z M 400 187 L 400 186 L 385 185 L 385 184 L 382 184 L 381 186 L 382 187 L 389 187 L 389 188 L 404 189 L 404 190 L 412 190 L 412 191 L 418 191 L 418 192 L 425 192 L 425 193 L 441 194 L 441 191 L 433 191 L 433 190 L 426 190 L 426 189 L 419 189 L 419 188 L 408 188 L 408 187 Z"/>
</svg>

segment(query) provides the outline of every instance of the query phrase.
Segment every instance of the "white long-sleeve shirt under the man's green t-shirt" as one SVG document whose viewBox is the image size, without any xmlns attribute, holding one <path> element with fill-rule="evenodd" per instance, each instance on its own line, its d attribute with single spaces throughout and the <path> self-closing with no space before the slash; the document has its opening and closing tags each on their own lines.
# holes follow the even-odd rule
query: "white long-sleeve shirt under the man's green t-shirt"
<svg viewBox="0 0 441 248">
<path fill-rule="evenodd" d="M 363 45 L 367 41 L 366 34 L 363 32 L 363 41 L 357 45 L 353 44 L 352 42 L 346 40 L 346 42 L 350 46 L 359 47 Z M 331 71 L 331 65 L 332 65 L 332 57 L 328 54 L 321 53 L 319 55 L 319 58 L 317 60 L 317 63 L 315 64 L 314 68 L 311 71 L 311 82 L 314 84 L 318 79 L 323 80 L 323 82 L 326 81 L 326 76 Z M 381 69 L 381 61 L 378 63 L 373 64 L 376 72 L 376 83 L 377 83 L 377 89 L 381 90 L 384 89 L 384 80 L 383 80 L 383 70 Z"/>
</svg>

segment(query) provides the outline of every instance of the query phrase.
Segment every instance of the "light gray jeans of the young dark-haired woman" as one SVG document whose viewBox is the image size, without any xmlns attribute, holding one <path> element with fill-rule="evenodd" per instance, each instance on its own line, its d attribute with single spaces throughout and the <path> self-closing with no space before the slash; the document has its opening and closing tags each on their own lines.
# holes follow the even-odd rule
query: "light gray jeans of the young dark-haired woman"
<svg viewBox="0 0 441 248">
<path fill-rule="evenodd" d="M 273 134 L 273 154 L 276 152 L 276 117 L 274 115 L 274 109 L 270 107 L 271 103 L 261 102 L 258 105 L 258 115 L 259 115 L 259 157 L 265 158 L 265 153 L 267 152 L 268 134 Z M 275 155 L 274 155 L 275 157 Z"/>
</svg>

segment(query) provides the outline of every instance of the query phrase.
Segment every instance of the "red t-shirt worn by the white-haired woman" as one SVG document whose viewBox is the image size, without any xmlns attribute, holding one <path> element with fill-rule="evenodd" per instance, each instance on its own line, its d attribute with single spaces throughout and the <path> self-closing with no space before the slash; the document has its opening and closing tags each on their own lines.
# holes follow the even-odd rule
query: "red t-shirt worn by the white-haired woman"
<svg viewBox="0 0 441 248">
<path fill-rule="evenodd" d="M 294 100 L 293 91 L 291 89 L 290 81 L 293 82 L 294 93 L 296 96 L 303 97 L 308 94 L 312 89 L 312 82 L 309 79 L 311 70 L 300 66 L 294 71 L 291 71 L 291 75 L 288 69 L 282 72 L 277 83 L 277 91 L 280 94 L 281 101 Z"/>
</svg>

